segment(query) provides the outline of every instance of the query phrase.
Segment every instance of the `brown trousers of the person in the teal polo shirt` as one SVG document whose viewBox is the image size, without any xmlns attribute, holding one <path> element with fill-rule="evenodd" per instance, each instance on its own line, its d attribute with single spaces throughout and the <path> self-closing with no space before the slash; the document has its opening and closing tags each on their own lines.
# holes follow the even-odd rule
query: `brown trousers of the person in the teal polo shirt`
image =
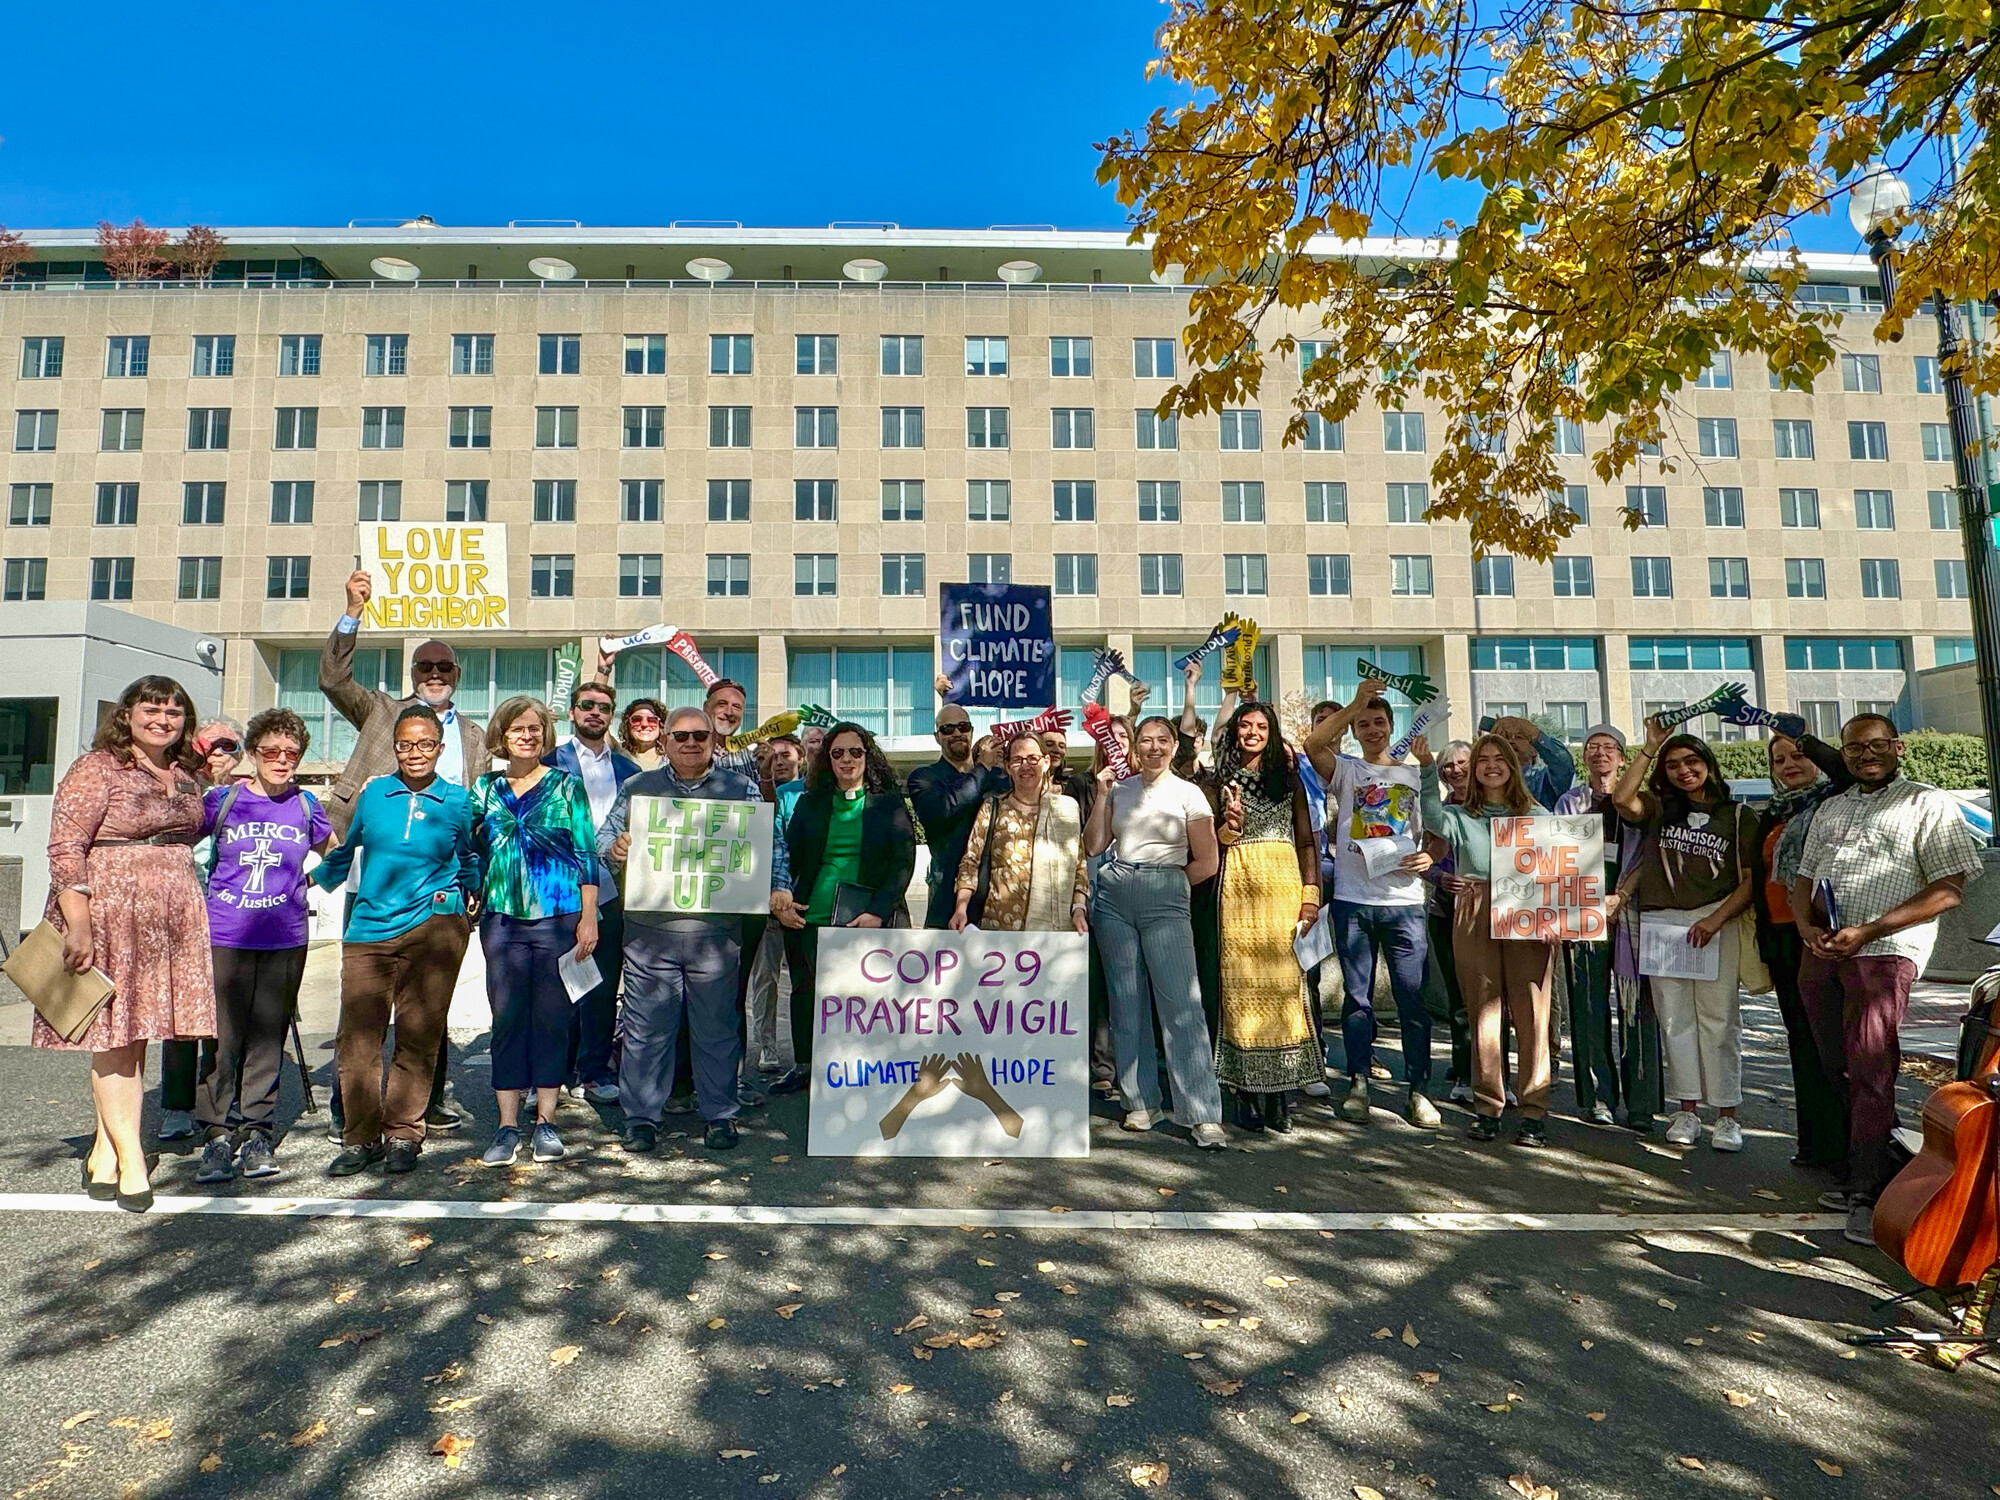
<svg viewBox="0 0 2000 1500">
<path fill-rule="evenodd" d="M 438 1066 L 452 986 L 472 924 L 430 916 L 386 942 L 350 942 L 340 954 L 340 1104 L 348 1146 L 424 1140 L 430 1076 Z M 396 1054 L 382 1084 L 382 1036 L 396 1022 Z"/>
</svg>

